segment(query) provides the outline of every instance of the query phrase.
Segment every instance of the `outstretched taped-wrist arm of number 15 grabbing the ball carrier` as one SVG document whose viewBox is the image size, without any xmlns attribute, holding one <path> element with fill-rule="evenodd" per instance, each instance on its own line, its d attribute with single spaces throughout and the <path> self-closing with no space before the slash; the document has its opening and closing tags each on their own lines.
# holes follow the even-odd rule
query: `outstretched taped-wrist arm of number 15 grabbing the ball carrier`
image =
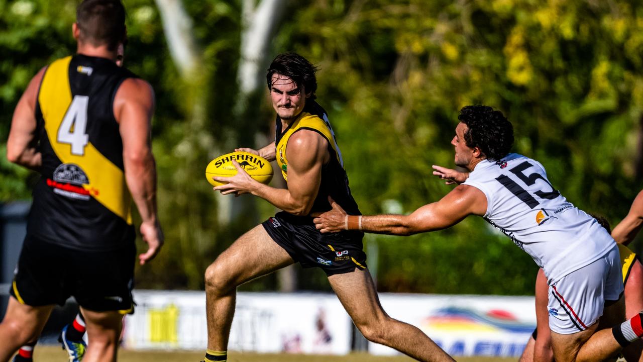
<svg viewBox="0 0 643 362">
<path fill-rule="evenodd" d="M 475 187 L 460 185 L 441 200 L 424 205 L 410 215 L 350 216 L 335 202 L 331 205 L 331 211 L 312 215 L 316 216 L 313 221 L 321 233 L 361 230 L 367 233 L 411 235 L 446 229 L 470 214 L 482 216 L 487 211 L 487 198 Z"/>
</svg>

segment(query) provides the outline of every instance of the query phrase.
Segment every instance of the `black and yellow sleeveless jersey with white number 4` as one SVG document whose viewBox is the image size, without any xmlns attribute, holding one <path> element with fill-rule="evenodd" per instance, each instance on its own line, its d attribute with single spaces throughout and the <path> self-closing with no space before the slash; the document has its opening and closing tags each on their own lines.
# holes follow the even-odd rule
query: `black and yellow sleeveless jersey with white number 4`
<svg viewBox="0 0 643 362">
<path fill-rule="evenodd" d="M 28 234 L 85 250 L 134 241 L 116 90 L 136 77 L 104 58 L 74 55 L 48 66 L 35 110 L 42 153 Z"/>
</svg>

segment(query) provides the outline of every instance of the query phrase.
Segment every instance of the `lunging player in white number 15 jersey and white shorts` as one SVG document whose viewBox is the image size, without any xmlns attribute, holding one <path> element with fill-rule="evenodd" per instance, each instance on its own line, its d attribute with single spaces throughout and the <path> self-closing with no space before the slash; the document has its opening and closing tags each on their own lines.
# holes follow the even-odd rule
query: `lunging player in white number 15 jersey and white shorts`
<svg viewBox="0 0 643 362">
<path fill-rule="evenodd" d="M 604 361 L 643 336 L 640 314 L 624 321 L 619 249 L 610 234 L 550 184 L 539 162 L 509 153 L 513 128 L 500 111 L 466 106 L 458 120 L 455 164 L 469 173 L 451 180 L 462 182 L 453 191 L 410 215 L 352 215 L 333 202 L 331 211 L 316 214 L 316 227 L 410 235 L 482 216 L 545 271 L 557 362 Z M 599 329 L 599 319 L 613 328 Z"/>
</svg>

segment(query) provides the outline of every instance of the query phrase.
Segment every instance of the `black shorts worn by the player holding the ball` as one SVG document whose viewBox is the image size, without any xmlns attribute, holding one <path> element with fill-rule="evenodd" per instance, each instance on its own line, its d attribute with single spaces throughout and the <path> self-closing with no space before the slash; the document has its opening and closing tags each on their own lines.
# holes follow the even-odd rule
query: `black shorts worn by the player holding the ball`
<svg viewBox="0 0 643 362">
<path fill-rule="evenodd" d="M 322 234 L 309 216 L 281 212 L 262 223 L 268 235 L 304 268 L 318 267 L 326 275 L 367 269 L 358 231 Z"/>
</svg>

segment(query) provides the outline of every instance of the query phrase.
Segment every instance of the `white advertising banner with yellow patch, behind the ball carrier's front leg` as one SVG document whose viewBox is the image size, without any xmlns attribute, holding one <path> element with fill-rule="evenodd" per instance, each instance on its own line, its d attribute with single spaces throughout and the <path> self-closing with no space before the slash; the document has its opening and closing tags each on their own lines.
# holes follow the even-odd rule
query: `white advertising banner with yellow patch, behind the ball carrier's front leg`
<svg viewBox="0 0 643 362">
<path fill-rule="evenodd" d="M 204 349 L 204 292 L 135 291 L 125 319 L 127 348 Z M 347 354 L 351 321 L 333 294 L 237 294 L 229 350 Z"/>
</svg>

